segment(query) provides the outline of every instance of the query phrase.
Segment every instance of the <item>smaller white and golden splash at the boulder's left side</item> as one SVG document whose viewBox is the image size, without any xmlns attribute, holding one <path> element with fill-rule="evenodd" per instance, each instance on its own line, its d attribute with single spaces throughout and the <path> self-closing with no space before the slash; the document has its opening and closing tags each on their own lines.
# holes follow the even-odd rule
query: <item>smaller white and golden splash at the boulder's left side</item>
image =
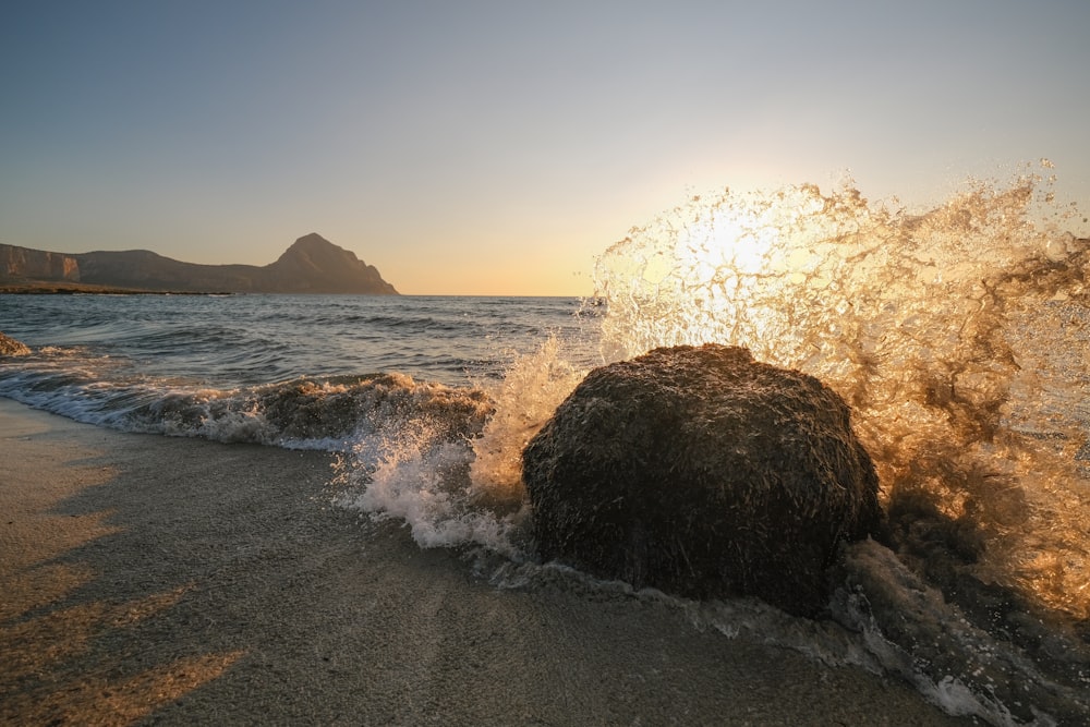
<svg viewBox="0 0 1090 727">
<path fill-rule="evenodd" d="M 459 415 L 451 426 L 432 412 L 391 427 L 386 414 L 387 433 L 360 437 L 354 459 L 342 458 L 341 504 L 403 520 L 422 547 L 483 545 L 521 558 L 522 449 L 586 372 L 567 362 L 556 336 L 511 358 L 501 379 L 476 390 L 492 402 L 486 422 Z"/>
</svg>

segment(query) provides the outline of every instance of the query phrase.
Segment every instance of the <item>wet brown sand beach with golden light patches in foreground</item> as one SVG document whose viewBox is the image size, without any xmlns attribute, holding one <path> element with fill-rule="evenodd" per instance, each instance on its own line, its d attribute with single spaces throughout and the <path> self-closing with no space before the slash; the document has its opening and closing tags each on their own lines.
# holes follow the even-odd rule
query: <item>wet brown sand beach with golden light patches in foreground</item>
<svg viewBox="0 0 1090 727">
<path fill-rule="evenodd" d="M 974 724 L 664 605 L 499 590 L 329 505 L 331 460 L 0 399 L 0 723 Z"/>
</svg>

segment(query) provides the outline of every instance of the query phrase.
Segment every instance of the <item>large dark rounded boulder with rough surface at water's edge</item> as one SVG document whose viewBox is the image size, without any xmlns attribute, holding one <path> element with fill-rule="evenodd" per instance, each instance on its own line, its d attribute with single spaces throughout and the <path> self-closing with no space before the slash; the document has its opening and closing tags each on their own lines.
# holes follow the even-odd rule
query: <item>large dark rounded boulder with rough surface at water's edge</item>
<svg viewBox="0 0 1090 727">
<path fill-rule="evenodd" d="M 741 348 L 655 349 L 591 372 L 522 468 L 543 558 L 799 615 L 825 606 L 840 543 L 881 521 L 844 401 Z"/>
</svg>

